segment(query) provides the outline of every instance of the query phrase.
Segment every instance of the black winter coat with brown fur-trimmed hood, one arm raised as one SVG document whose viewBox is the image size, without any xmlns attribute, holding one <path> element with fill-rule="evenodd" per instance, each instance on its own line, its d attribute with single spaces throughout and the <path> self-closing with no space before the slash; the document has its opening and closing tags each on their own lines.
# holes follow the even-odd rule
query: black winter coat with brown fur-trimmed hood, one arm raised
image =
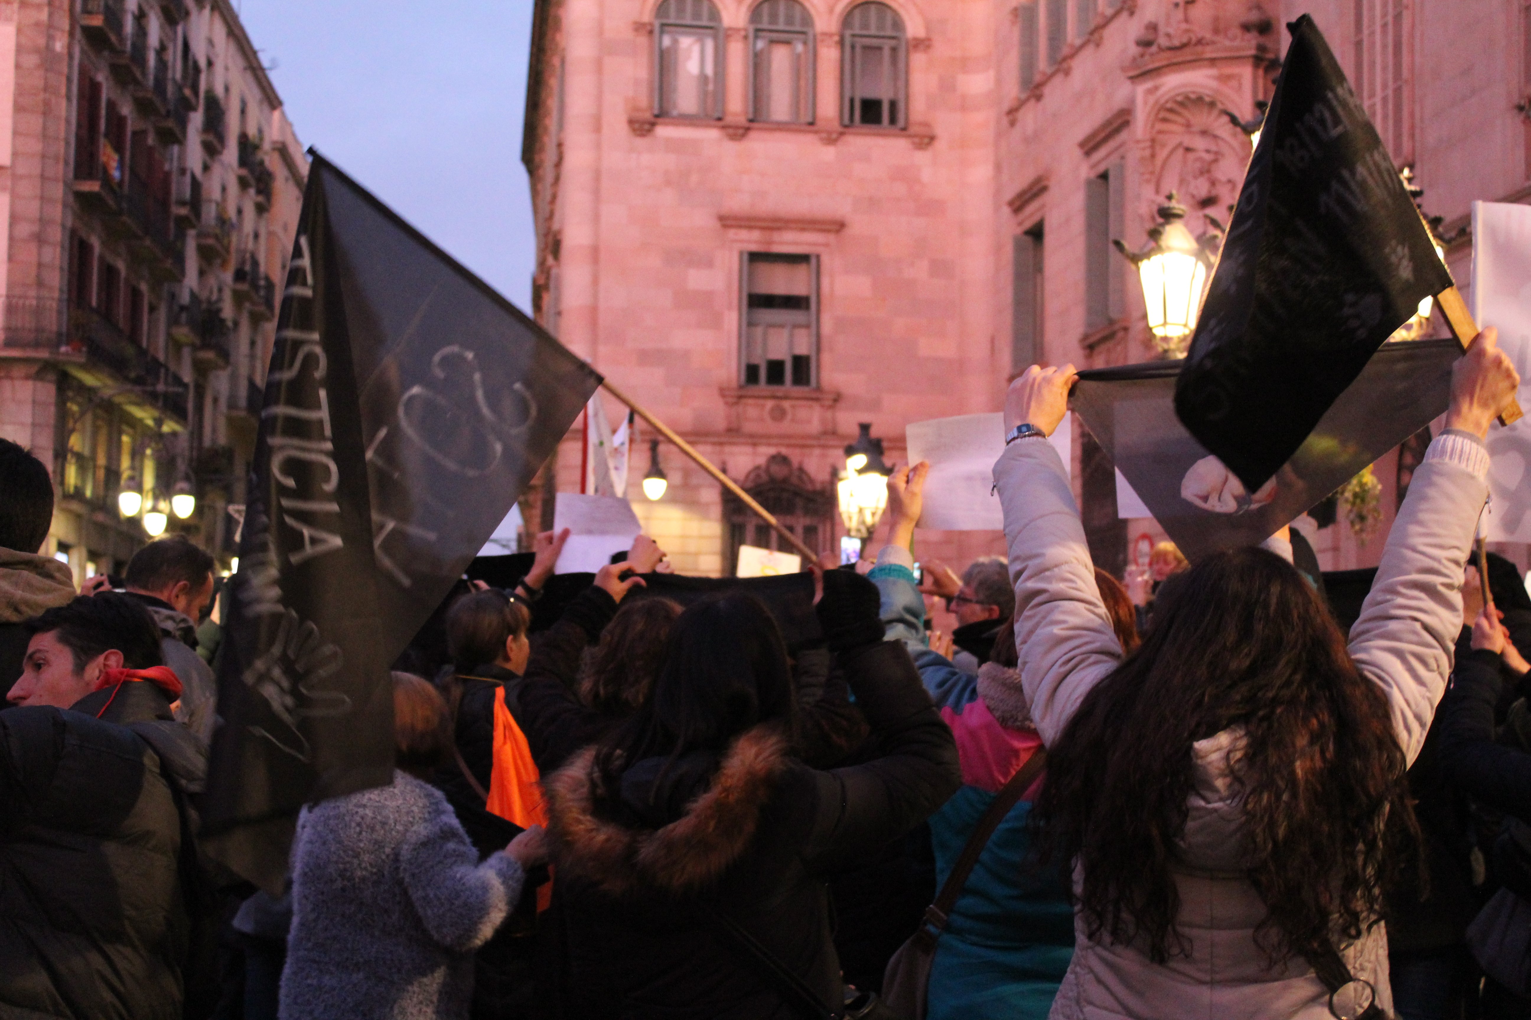
<svg viewBox="0 0 1531 1020">
<path fill-rule="evenodd" d="M 863 645 L 844 668 L 883 748 L 865 765 L 811 769 L 766 723 L 721 760 L 637 762 L 622 781 L 628 824 L 596 812 L 592 749 L 545 778 L 570 1015 L 796 1018 L 720 940 L 704 904 L 841 1002 L 824 875 L 903 835 L 960 784 L 951 729 L 908 653 Z"/>
</svg>

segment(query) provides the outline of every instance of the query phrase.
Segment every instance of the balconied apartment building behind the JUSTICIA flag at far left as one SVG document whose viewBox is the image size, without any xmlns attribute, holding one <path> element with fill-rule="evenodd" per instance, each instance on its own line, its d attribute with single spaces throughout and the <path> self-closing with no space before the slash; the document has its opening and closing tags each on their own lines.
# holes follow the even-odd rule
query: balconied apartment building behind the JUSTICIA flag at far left
<svg viewBox="0 0 1531 1020">
<path fill-rule="evenodd" d="M 227 0 L 12 0 L 0 67 L 0 436 L 54 468 L 46 551 L 119 570 L 136 482 L 227 563 L 306 174 L 282 101 Z"/>
</svg>

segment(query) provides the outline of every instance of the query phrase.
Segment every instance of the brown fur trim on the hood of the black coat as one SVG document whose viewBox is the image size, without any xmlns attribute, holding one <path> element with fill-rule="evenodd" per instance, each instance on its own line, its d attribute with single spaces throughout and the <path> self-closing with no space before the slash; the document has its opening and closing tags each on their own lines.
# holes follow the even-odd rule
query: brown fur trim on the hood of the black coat
<svg viewBox="0 0 1531 1020">
<path fill-rule="evenodd" d="M 717 881 L 750 847 L 788 752 L 776 726 L 746 731 L 683 814 L 654 829 L 596 817 L 594 762 L 596 748 L 586 748 L 544 781 L 559 869 L 611 895 L 643 888 L 692 893 Z M 640 762 L 634 771 L 646 765 Z M 649 789 L 643 786 L 643 792 Z M 637 792 L 623 783 L 623 803 L 643 815 L 652 807 L 632 803 Z"/>
</svg>

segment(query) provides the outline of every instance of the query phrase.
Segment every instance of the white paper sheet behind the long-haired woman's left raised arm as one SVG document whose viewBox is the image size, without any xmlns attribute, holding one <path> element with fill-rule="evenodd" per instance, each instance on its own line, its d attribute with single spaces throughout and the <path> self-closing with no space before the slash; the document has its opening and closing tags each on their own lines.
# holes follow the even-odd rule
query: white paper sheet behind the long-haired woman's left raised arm
<svg viewBox="0 0 1531 1020">
<path fill-rule="evenodd" d="M 1004 416 L 961 414 L 911 422 L 905 430 L 909 463 L 931 462 L 925 479 L 920 528 L 937 531 L 1004 531 L 1004 511 L 994 494 L 994 462 L 1004 453 Z M 1072 469 L 1073 413 L 1067 413 L 1049 442 Z M 1027 439 L 1024 442 L 1036 442 Z"/>
</svg>

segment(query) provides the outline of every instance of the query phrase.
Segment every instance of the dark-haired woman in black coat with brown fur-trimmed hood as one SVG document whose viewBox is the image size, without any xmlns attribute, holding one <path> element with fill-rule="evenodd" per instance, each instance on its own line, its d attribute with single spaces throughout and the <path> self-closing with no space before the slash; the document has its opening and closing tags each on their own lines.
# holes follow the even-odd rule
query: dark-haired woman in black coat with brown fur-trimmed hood
<svg viewBox="0 0 1531 1020">
<path fill-rule="evenodd" d="M 841 1009 L 824 875 L 912 829 L 960 774 L 908 653 L 882 641 L 877 589 L 828 570 L 818 615 L 873 760 L 792 757 L 781 632 L 727 593 L 681 613 L 637 714 L 545 783 L 570 1015 L 802 1015 L 767 959 L 822 1015 Z"/>
</svg>

